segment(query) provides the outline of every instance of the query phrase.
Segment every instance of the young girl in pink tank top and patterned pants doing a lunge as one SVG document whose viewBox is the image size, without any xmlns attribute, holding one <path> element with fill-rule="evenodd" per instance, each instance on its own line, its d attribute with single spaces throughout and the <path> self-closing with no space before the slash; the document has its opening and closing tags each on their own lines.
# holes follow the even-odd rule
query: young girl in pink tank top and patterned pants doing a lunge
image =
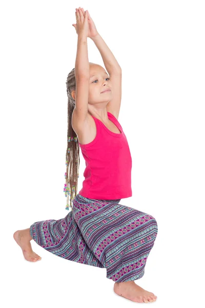
<svg viewBox="0 0 205 308">
<path fill-rule="evenodd" d="M 106 268 L 107 278 L 115 281 L 116 294 L 134 302 L 152 302 L 157 297 L 134 280 L 145 273 L 157 236 L 157 222 L 151 215 L 120 204 L 122 198 L 132 196 L 132 158 L 117 120 L 121 69 L 88 11 L 79 8 L 75 14 L 76 62 L 66 82 L 68 148 L 64 191 L 68 197 L 66 208 L 71 211 L 59 220 L 34 222 L 30 228 L 16 231 L 14 239 L 28 261 L 41 259 L 32 251 L 33 239 L 61 258 Z M 100 65 L 89 63 L 87 37 L 99 49 L 109 75 Z M 86 168 L 83 187 L 77 194 L 79 147 Z"/>
</svg>

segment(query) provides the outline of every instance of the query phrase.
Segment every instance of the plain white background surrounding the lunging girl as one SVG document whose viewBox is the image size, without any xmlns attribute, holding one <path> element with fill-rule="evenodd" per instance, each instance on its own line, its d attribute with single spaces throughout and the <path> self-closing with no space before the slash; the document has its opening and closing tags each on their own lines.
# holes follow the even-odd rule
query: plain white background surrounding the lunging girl
<svg viewBox="0 0 205 308">
<path fill-rule="evenodd" d="M 204 274 L 204 2 L 2 1 L 1 280 L 3 307 L 137 305 L 113 292 L 106 269 L 13 239 L 33 222 L 68 215 L 66 79 L 74 68 L 75 8 L 89 10 L 122 69 L 118 121 L 132 155 L 131 198 L 158 234 L 135 282 L 153 305 L 202 307 Z M 89 62 L 104 67 L 88 38 Z M 85 161 L 80 151 L 78 191 Z M 204 284 L 203 284 L 204 286 Z"/>
</svg>

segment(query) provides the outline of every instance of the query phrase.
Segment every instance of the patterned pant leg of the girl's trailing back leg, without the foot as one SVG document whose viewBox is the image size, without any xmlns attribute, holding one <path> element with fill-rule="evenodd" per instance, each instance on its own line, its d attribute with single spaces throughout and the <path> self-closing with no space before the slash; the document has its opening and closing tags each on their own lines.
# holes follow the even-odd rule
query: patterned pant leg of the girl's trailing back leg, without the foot
<svg viewBox="0 0 205 308">
<path fill-rule="evenodd" d="M 34 222 L 30 236 L 39 246 L 58 257 L 87 265 L 103 267 L 84 240 L 71 210 L 65 218 Z"/>
</svg>

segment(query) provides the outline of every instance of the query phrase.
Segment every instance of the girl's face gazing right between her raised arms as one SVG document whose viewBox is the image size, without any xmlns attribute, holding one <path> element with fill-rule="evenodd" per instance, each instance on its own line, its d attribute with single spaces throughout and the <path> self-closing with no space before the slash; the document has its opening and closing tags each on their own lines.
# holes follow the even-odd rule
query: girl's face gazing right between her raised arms
<svg viewBox="0 0 205 308">
<path fill-rule="evenodd" d="M 103 91 L 109 89 L 110 91 Z M 90 65 L 89 104 L 107 103 L 112 99 L 112 88 L 109 75 L 99 65 Z"/>
</svg>

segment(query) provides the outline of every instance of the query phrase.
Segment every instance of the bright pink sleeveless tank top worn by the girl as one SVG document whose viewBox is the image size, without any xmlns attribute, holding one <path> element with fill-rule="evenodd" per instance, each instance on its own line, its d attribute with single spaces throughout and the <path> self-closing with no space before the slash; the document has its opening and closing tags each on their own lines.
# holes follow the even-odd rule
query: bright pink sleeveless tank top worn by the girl
<svg viewBox="0 0 205 308">
<path fill-rule="evenodd" d="M 93 115 L 92 115 L 93 117 Z M 109 130 L 93 117 L 97 134 L 87 144 L 78 144 L 86 161 L 85 180 L 79 194 L 85 198 L 114 200 L 132 196 L 132 158 L 125 133 L 114 115 L 108 118 L 121 133 Z"/>
</svg>

